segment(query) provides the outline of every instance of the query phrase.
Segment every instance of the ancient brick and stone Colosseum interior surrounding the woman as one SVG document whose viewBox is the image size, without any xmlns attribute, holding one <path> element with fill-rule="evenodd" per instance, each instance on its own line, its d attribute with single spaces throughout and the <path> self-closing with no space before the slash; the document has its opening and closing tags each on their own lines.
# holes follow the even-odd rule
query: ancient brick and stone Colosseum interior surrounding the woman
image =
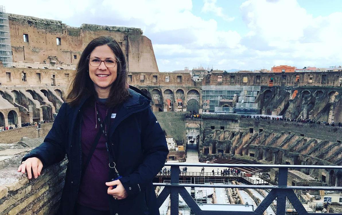
<svg viewBox="0 0 342 215">
<path fill-rule="evenodd" d="M 229 164 L 234 160 L 235 164 L 342 165 L 342 127 L 338 126 L 342 121 L 342 72 L 209 73 L 198 81 L 190 73 L 160 73 L 152 42 L 141 29 L 88 24 L 70 27 L 61 21 L 15 14 L 8 14 L 8 20 L 13 62 L 12 67 L 0 67 L 0 128 L 15 124 L 18 128 L 0 132 L 0 214 L 56 212 L 67 160 L 45 169 L 38 179 L 28 180 L 16 169 L 22 156 L 49 132 L 65 101 L 82 49 L 98 35 L 110 35 L 119 41 L 128 59 L 129 84 L 152 98 L 152 109 L 170 142 L 169 162 L 188 162 L 192 152 L 198 162 L 204 163 Z M 222 91 L 233 90 L 239 94 L 229 99 L 220 97 Z M 211 102 L 217 97 L 214 91 L 219 95 L 215 107 Z M 241 103 L 241 98 L 253 100 Z M 214 108 L 234 111 L 212 114 Z M 194 111 L 200 118 L 189 118 Z M 40 123 L 39 127 L 31 126 L 35 123 Z M 195 144 L 189 144 L 189 136 L 197 137 Z M 276 168 L 270 168 L 261 175 L 267 184 L 276 185 L 278 173 Z M 158 175 L 156 182 L 165 178 Z M 241 183 L 237 181 L 229 179 L 227 183 Z M 287 184 L 342 187 L 342 171 L 293 168 L 288 171 Z M 215 197 L 218 190 L 207 189 L 211 195 L 206 195 L 205 201 L 219 202 Z M 242 189 L 223 190 L 231 204 L 249 202 L 241 194 Z M 255 204 L 257 195 L 250 190 L 243 192 L 254 198 Z M 316 191 L 296 193 L 308 212 L 323 210 L 323 199 L 322 208 L 318 203 L 309 206 Z M 341 213 L 341 191 L 332 194 L 320 190 L 319 194 L 337 199 L 327 210 Z M 169 212 L 168 206 L 165 208 Z M 267 214 L 275 213 L 271 210 Z"/>
</svg>

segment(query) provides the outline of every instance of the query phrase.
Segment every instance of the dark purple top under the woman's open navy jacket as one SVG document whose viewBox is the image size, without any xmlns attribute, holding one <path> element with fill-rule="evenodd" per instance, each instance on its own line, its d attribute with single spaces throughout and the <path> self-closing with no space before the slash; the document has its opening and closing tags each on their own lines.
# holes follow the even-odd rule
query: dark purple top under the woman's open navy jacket
<svg viewBox="0 0 342 215">
<path fill-rule="evenodd" d="M 101 101 L 102 100 L 102 101 Z M 104 102 L 103 99 L 100 99 Z M 106 117 L 107 107 L 104 103 L 96 102 L 96 108 L 100 114 L 101 120 Z M 115 111 L 112 111 L 116 113 Z M 108 113 L 111 114 L 111 113 Z M 95 107 L 87 106 L 83 109 L 83 122 L 81 128 L 81 145 L 82 145 L 82 163 L 86 162 L 92 144 L 94 143 L 100 124 L 97 123 L 95 129 L 96 113 Z M 111 115 L 113 116 L 113 115 Z M 113 123 L 114 118 L 110 119 Z M 108 131 L 108 126 L 107 126 Z M 108 194 L 106 182 L 108 182 L 109 174 L 109 158 L 106 149 L 106 138 L 102 134 L 97 143 L 94 154 L 90 159 L 89 165 L 84 173 L 81 181 L 77 202 L 80 205 L 93 208 L 95 210 L 107 211 L 109 210 Z"/>
</svg>

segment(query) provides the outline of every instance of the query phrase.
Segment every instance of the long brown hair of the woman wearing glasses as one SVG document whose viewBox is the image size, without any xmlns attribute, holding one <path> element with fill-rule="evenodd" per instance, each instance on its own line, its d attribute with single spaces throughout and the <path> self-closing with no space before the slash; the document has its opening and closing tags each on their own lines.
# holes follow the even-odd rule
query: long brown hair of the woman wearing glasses
<svg viewBox="0 0 342 215">
<path fill-rule="evenodd" d="M 117 77 L 113 82 L 109 96 L 107 99 L 108 106 L 116 106 L 126 101 L 129 96 L 127 85 L 127 65 L 125 56 L 120 45 L 110 36 L 100 36 L 92 40 L 83 50 L 80 60 L 78 61 L 76 73 L 70 83 L 69 93 L 66 102 L 71 106 L 78 105 L 81 99 L 86 95 L 94 95 L 97 93 L 94 89 L 93 81 L 89 77 L 89 56 L 97 47 L 107 45 L 114 52 L 117 62 Z"/>
</svg>

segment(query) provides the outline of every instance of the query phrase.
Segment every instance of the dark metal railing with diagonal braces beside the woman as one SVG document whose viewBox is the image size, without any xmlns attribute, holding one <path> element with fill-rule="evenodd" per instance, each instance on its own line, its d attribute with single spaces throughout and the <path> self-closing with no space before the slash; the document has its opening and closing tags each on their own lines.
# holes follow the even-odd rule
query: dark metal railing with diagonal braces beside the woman
<svg viewBox="0 0 342 215">
<path fill-rule="evenodd" d="M 157 198 L 157 205 L 160 207 L 166 198 L 170 195 L 170 215 L 179 214 L 179 195 L 184 199 L 190 210 L 196 215 L 262 215 L 263 212 L 272 205 L 272 202 L 277 199 L 276 213 L 277 215 L 285 215 L 286 199 L 288 199 L 298 215 L 314 215 L 308 213 L 293 190 L 336 190 L 341 191 L 342 187 L 328 186 L 287 186 L 288 169 L 342 169 L 342 166 L 309 166 L 309 165 L 262 165 L 262 164 L 177 164 L 166 163 L 165 166 L 171 166 L 171 183 L 154 183 L 155 186 L 164 186 L 164 189 Z M 250 168 L 276 168 L 278 169 L 278 185 L 233 185 L 233 184 L 180 184 L 179 183 L 179 168 L 180 166 L 187 167 L 250 167 Z M 253 212 L 246 211 L 205 211 L 201 210 L 199 205 L 190 196 L 185 187 L 217 187 L 217 188 L 250 188 L 250 189 L 271 189 L 264 200 Z M 330 214 L 330 213 L 320 213 Z M 342 215 L 342 213 L 335 213 Z"/>
</svg>

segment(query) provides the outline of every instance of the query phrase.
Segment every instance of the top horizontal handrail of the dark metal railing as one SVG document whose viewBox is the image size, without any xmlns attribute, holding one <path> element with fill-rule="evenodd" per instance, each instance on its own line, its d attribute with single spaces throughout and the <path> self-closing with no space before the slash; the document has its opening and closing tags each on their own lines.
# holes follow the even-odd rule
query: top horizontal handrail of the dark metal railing
<svg viewBox="0 0 342 215">
<path fill-rule="evenodd" d="M 165 163 L 164 166 L 187 167 L 254 167 L 254 168 L 284 168 L 284 169 L 342 169 L 342 166 L 323 165 L 281 165 L 281 164 L 198 164 L 198 163 Z"/>
</svg>

